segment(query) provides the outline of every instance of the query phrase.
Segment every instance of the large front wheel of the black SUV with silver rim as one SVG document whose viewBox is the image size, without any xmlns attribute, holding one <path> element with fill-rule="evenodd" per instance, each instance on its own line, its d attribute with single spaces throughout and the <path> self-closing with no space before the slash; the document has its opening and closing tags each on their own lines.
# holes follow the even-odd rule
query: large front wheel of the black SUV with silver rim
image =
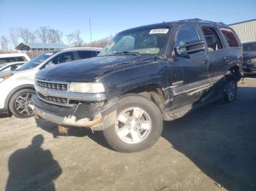
<svg viewBox="0 0 256 191">
<path fill-rule="evenodd" d="M 103 130 L 103 134 L 116 151 L 138 152 L 157 142 L 162 124 L 162 113 L 153 101 L 127 94 L 118 100 L 115 125 Z"/>
</svg>

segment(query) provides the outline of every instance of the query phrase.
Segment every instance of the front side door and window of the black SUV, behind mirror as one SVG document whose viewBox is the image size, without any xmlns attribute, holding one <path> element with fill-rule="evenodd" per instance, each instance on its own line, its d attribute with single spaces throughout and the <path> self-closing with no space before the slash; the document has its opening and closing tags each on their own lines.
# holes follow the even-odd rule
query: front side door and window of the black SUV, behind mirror
<svg viewBox="0 0 256 191">
<path fill-rule="evenodd" d="M 191 23 L 178 26 L 176 31 L 174 49 L 176 47 L 203 40 L 200 28 Z M 173 49 L 173 50 L 174 50 Z M 206 51 L 175 55 L 170 64 L 170 77 L 180 76 L 178 81 L 171 79 L 173 87 L 174 108 L 193 103 L 200 99 L 209 85 L 209 68 L 206 64 Z"/>
</svg>

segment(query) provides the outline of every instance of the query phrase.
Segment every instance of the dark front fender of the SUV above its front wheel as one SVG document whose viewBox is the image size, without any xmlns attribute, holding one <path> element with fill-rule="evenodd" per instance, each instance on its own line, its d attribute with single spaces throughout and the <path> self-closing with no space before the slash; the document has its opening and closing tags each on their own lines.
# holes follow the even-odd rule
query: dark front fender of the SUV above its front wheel
<svg viewBox="0 0 256 191">
<path fill-rule="evenodd" d="M 105 86 L 108 99 L 116 98 L 130 90 L 155 85 L 160 88 L 170 84 L 170 68 L 167 61 L 147 63 L 116 70 L 99 79 Z"/>
</svg>

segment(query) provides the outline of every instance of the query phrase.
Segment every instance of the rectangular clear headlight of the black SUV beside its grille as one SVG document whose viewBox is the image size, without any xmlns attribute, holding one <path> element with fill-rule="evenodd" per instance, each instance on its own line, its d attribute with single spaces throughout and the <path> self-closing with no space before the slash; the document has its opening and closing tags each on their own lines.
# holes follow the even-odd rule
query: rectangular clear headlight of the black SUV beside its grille
<svg viewBox="0 0 256 191">
<path fill-rule="evenodd" d="M 75 93 L 104 93 L 105 88 L 100 82 L 70 82 L 69 91 Z"/>
</svg>

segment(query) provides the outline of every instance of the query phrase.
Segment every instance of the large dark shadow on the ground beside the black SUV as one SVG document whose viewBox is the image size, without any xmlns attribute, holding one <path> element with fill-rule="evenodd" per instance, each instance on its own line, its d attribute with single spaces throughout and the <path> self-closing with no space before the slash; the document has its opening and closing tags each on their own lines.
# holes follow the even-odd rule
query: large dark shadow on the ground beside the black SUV
<svg viewBox="0 0 256 191">
<path fill-rule="evenodd" d="M 244 104 L 242 106 L 241 104 Z M 256 88 L 165 122 L 162 136 L 227 190 L 256 190 Z"/>
</svg>

